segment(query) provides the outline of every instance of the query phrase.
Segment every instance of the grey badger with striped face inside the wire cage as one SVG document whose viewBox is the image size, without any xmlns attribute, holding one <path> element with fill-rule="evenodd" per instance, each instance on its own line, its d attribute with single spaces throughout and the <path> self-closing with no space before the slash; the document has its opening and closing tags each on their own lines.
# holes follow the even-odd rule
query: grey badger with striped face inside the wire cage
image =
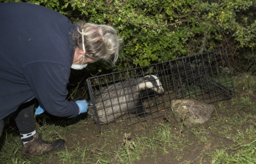
<svg viewBox="0 0 256 164">
<path fill-rule="evenodd" d="M 94 94 L 97 113 L 88 110 L 88 115 L 97 115 L 101 123 L 109 123 L 125 114 L 144 114 L 143 97 L 149 93 L 163 93 L 164 89 L 156 75 L 125 79 L 108 85 Z"/>
</svg>

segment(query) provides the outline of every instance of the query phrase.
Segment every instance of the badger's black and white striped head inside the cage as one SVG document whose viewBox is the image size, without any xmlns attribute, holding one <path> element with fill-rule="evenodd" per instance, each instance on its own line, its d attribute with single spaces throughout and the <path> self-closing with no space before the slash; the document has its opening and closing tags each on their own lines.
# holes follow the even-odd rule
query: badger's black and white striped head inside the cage
<svg viewBox="0 0 256 164">
<path fill-rule="evenodd" d="M 156 93 L 163 93 L 164 89 L 156 75 L 147 75 L 144 77 L 144 81 L 139 83 L 139 89 L 152 89 Z"/>
</svg>

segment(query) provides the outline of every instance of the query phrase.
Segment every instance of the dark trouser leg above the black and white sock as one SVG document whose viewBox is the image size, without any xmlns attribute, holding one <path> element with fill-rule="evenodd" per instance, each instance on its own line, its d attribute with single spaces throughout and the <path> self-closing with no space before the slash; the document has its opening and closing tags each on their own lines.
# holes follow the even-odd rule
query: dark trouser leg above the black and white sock
<svg viewBox="0 0 256 164">
<path fill-rule="evenodd" d="M 34 106 L 35 99 L 32 99 L 31 101 L 20 105 L 18 110 L 13 113 L 20 134 L 31 133 L 35 130 Z M 0 137 L 2 135 L 3 126 L 2 120 L 0 121 Z"/>
</svg>

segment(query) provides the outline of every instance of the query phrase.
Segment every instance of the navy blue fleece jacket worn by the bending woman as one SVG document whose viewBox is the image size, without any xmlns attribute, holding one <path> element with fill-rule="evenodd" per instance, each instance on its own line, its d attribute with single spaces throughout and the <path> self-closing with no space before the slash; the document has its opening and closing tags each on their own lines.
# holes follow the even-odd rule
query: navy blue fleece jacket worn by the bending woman
<svg viewBox="0 0 256 164">
<path fill-rule="evenodd" d="M 0 3 L 0 121 L 36 98 L 48 113 L 76 117 L 67 101 L 77 31 L 69 19 L 30 3 Z"/>
</svg>

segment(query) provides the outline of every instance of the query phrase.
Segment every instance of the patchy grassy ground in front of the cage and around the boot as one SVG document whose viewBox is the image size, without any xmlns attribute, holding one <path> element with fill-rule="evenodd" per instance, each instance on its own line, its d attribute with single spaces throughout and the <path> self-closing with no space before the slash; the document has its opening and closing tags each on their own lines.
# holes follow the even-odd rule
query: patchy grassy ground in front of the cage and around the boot
<svg viewBox="0 0 256 164">
<path fill-rule="evenodd" d="M 49 160 L 53 160 L 51 163 L 255 163 L 256 98 L 253 93 L 256 88 L 251 85 L 255 81 L 256 78 L 248 74 L 237 77 L 234 81 L 240 89 L 237 97 L 215 103 L 211 120 L 192 127 L 185 127 L 176 122 L 173 115 L 167 115 L 168 121 L 154 119 L 99 133 L 85 115 L 52 119 L 42 114 L 36 118 L 36 130 L 42 138 L 46 141 L 62 138 L 67 144 L 61 151 L 30 159 L 22 157 L 17 127 L 10 121 L 0 140 L 0 161 L 17 164 Z"/>
</svg>

